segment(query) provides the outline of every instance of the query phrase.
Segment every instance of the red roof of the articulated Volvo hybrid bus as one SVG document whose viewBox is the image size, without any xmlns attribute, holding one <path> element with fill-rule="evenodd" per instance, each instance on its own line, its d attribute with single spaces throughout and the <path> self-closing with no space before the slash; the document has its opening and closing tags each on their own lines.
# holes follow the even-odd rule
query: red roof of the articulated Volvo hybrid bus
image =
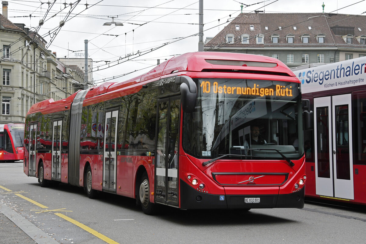
<svg viewBox="0 0 366 244">
<path fill-rule="evenodd" d="M 280 60 L 260 55 L 246 53 L 227 53 L 227 52 L 192 52 L 172 57 L 157 65 L 149 72 L 126 80 L 124 82 L 105 82 L 101 85 L 92 87 L 87 92 L 85 99 L 93 98 L 98 95 L 119 90 L 127 86 L 135 85 L 153 79 L 159 79 L 161 76 L 174 74 L 177 72 L 228 72 L 238 71 L 253 74 L 268 74 L 295 77 L 295 74 Z M 137 92 L 141 87 L 134 87 L 129 93 Z M 76 92 L 77 93 L 77 92 Z M 42 112 L 54 112 L 70 109 L 76 93 L 70 97 L 53 101 L 45 100 L 34 104 L 28 113 L 34 113 L 42 109 Z M 127 93 L 126 93 L 127 94 Z M 118 95 L 125 95 L 120 93 Z M 91 102 L 91 101 L 90 101 Z M 50 110 L 51 109 L 51 110 Z"/>
</svg>

